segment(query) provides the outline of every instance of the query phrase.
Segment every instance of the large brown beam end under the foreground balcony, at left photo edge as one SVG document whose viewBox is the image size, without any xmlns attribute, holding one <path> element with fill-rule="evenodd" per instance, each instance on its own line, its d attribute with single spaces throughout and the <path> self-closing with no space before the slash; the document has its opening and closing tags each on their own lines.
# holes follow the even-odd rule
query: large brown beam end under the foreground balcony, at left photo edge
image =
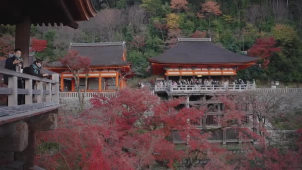
<svg viewBox="0 0 302 170">
<path fill-rule="evenodd" d="M 0 138 L 0 152 L 21 152 L 28 144 L 28 125 L 19 122 L 15 125 L 15 132 Z"/>
</svg>

